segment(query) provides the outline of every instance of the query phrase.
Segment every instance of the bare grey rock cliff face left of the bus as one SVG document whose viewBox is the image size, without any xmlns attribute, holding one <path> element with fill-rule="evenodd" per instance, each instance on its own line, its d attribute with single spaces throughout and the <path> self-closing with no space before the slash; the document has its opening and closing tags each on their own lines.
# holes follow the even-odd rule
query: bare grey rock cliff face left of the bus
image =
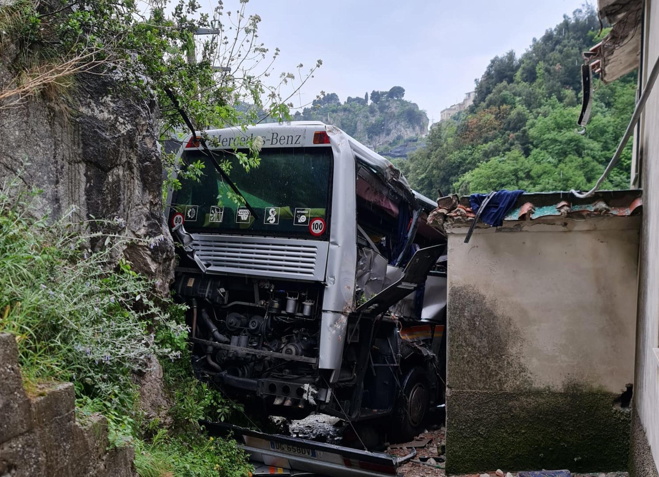
<svg viewBox="0 0 659 477">
<path fill-rule="evenodd" d="M 12 54 L 0 53 L 0 84 L 14 74 Z M 114 221 L 114 231 L 138 239 L 162 235 L 124 253 L 167 293 L 173 243 L 163 224 L 156 103 L 119 88 L 108 76 L 79 76 L 63 92 L 0 109 L 0 180 L 21 171 L 23 182 L 43 190 L 39 211 L 53 218 L 76 206 L 76 220 Z"/>
</svg>

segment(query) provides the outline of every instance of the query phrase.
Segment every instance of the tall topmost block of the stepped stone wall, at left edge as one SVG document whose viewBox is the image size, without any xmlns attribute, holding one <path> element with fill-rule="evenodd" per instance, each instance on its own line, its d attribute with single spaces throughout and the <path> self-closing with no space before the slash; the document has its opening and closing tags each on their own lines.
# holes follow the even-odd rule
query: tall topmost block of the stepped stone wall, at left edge
<svg viewBox="0 0 659 477">
<path fill-rule="evenodd" d="M 13 335 L 0 333 L 0 443 L 32 429 Z"/>
</svg>

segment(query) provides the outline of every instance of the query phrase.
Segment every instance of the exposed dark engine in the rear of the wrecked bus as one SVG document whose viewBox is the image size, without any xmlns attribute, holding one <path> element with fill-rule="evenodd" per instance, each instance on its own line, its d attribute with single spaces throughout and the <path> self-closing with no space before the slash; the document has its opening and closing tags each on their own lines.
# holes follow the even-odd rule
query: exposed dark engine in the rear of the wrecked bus
<svg viewBox="0 0 659 477">
<path fill-rule="evenodd" d="M 260 379 L 253 391 L 271 404 L 303 405 L 317 377 L 320 285 L 181 273 L 175 287 L 190 305 L 198 374 Z"/>
</svg>

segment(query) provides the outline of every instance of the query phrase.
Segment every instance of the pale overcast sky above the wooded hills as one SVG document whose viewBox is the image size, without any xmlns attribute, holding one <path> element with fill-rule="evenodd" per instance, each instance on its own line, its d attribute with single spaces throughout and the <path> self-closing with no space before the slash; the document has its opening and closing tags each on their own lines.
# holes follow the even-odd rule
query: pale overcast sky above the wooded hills
<svg viewBox="0 0 659 477">
<path fill-rule="evenodd" d="M 209 5 L 213 0 L 199 0 Z M 518 55 L 584 0 L 250 0 L 260 40 L 281 49 L 276 70 L 323 65 L 302 91 L 364 96 L 403 86 L 439 121 L 440 111 L 473 90 L 494 55 Z M 237 9 L 225 0 L 225 9 Z"/>
</svg>

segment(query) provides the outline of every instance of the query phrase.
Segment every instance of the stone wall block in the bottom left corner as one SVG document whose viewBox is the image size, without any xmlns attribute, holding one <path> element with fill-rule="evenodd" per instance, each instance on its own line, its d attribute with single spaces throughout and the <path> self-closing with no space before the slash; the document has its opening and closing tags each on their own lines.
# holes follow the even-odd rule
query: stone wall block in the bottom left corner
<svg viewBox="0 0 659 477">
<path fill-rule="evenodd" d="M 45 476 L 45 455 L 34 431 L 0 444 L 0 475 L 11 477 Z"/>
</svg>

